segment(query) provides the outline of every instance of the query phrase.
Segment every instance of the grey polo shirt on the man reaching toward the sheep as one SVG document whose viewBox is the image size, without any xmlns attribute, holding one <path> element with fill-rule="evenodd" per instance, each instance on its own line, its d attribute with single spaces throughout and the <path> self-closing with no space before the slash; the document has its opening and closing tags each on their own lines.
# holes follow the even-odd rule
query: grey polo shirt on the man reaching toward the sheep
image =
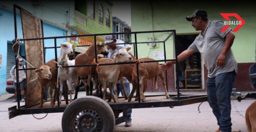
<svg viewBox="0 0 256 132">
<path fill-rule="evenodd" d="M 226 55 L 225 66 L 215 66 L 217 58 L 225 44 L 225 36 L 231 31 L 231 29 L 228 28 L 225 32 L 220 32 L 224 26 L 224 23 L 220 20 L 208 21 L 204 36 L 200 33 L 195 41 L 188 47 L 190 50 L 196 50 L 201 53 L 204 64 L 208 69 L 209 78 L 213 78 L 220 73 L 234 70 L 237 73 L 237 62 L 231 48 Z"/>
</svg>

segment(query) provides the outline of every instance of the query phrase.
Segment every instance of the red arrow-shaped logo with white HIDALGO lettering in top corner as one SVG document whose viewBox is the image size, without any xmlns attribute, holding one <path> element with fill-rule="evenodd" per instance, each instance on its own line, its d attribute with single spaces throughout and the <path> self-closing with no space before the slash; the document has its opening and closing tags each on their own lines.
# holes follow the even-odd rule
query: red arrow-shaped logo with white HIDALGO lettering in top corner
<svg viewBox="0 0 256 132">
<path fill-rule="evenodd" d="M 220 30 L 220 32 L 226 31 L 230 25 L 237 25 L 233 30 L 233 32 L 236 32 L 245 24 L 245 21 L 236 13 L 220 13 L 220 15 L 226 20 L 224 21 L 225 26 Z M 235 17 L 237 21 L 231 21 L 229 17 Z"/>
</svg>

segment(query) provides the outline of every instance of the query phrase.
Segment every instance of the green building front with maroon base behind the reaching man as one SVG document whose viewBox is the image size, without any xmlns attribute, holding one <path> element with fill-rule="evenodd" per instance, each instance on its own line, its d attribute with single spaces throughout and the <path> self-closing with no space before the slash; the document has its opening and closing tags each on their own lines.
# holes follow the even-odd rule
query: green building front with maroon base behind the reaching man
<svg viewBox="0 0 256 132">
<path fill-rule="evenodd" d="M 183 1 L 131 1 L 131 20 L 132 31 L 156 31 L 156 30 L 176 30 L 177 53 L 186 50 L 194 41 L 195 37 L 200 33 L 196 31 L 191 22 L 186 20 L 196 9 L 206 10 L 209 20 L 222 20 L 224 18 L 220 13 L 237 13 L 244 21 L 245 25 L 237 32 L 234 32 L 236 38 L 234 40 L 232 50 L 238 63 L 238 74 L 234 83 L 237 91 L 254 91 L 249 84 L 249 67 L 255 63 L 255 33 L 256 33 L 256 16 L 255 8 L 251 3 L 235 4 L 229 2 L 222 3 L 196 3 Z M 236 18 L 231 18 L 236 20 Z M 231 26 L 234 29 L 236 26 Z M 138 34 L 137 42 L 162 41 L 170 33 L 148 33 Z M 134 38 L 132 39 L 134 42 Z M 154 58 L 160 60 L 163 53 L 163 44 L 156 43 L 155 47 L 151 44 L 138 45 L 138 56 Z M 170 37 L 166 41 L 166 58 L 174 58 L 174 38 Z M 206 91 L 207 69 L 204 66 L 202 57 L 199 53 L 195 53 L 186 60 L 180 62 L 179 86 L 182 91 Z M 174 67 L 167 71 L 168 90 L 177 91 L 175 84 Z M 148 91 L 163 91 L 163 86 L 158 82 L 158 90 L 153 89 L 152 81 L 148 81 Z"/>
</svg>

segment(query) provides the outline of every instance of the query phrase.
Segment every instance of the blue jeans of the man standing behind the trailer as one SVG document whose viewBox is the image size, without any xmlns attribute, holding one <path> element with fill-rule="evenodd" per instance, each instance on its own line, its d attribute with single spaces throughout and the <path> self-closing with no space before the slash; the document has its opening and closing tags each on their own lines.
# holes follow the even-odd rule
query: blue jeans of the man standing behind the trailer
<svg viewBox="0 0 256 132">
<path fill-rule="evenodd" d="M 121 92 L 122 96 L 124 96 L 124 91 L 121 89 L 121 84 L 117 83 L 116 86 L 117 86 L 117 95 L 119 96 L 119 94 Z M 130 96 L 130 84 L 129 83 L 124 84 L 124 90 L 125 90 L 127 96 L 129 97 Z M 115 94 L 114 87 L 113 87 L 112 91 Z M 131 114 L 132 114 L 132 109 L 127 109 L 127 120 L 128 121 L 132 121 Z"/>
</svg>

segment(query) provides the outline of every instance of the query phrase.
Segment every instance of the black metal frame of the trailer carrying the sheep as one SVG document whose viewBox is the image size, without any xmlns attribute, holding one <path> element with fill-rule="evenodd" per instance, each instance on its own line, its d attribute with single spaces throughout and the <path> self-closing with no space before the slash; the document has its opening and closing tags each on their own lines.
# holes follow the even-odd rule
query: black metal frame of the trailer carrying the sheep
<svg viewBox="0 0 256 132">
<path fill-rule="evenodd" d="M 14 9 L 14 26 L 15 26 L 15 39 L 17 38 L 17 25 L 16 25 L 16 8 L 21 9 L 21 7 L 17 5 L 13 5 Z M 43 32 L 43 29 L 42 29 Z M 56 39 L 59 38 L 69 38 L 69 37 L 85 37 L 85 36 L 94 36 L 94 44 L 95 44 L 95 62 L 97 63 L 97 52 L 96 52 L 96 36 L 102 36 L 102 35 L 117 35 L 117 34 L 134 34 L 135 36 L 135 42 L 134 43 L 121 43 L 121 44 L 133 44 L 134 47 L 134 56 L 136 59 L 138 59 L 138 51 L 137 51 L 137 44 L 145 44 L 145 43 L 153 43 L 153 42 L 137 42 L 137 34 L 142 33 L 160 33 L 160 32 L 170 32 L 170 34 L 167 36 L 167 38 L 164 41 L 157 41 L 154 43 L 163 43 L 164 45 L 164 60 L 154 60 L 154 61 L 144 61 L 144 63 L 150 63 L 150 62 L 166 62 L 166 61 L 176 61 L 176 64 L 178 64 L 177 59 L 166 59 L 166 49 L 165 49 L 165 42 L 174 35 L 174 52 L 175 52 L 175 58 L 177 58 L 177 46 L 176 46 L 176 30 L 160 30 L 160 31 L 142 31 L 142 32 L 124 32 L 124 33 L 103 33 L 103 34 L 88 34 L 88 35 L 74 35 L 74 36 L 56 36 L 56 37 L 43 37 L 43 38 L 30 38 L 30 39 L 20 39 L 20 41 L 29 41 L 29 40 L 44 40 L 44 39 L 54 39 L 54 47 L 44 47 L 45 49 L 54 48 L 55 49 L 55 61 L 57 61 L 57 43 Z M 43 43 L 44 44 L 44 43 Z M 106 44 L 106 45 L 112 45 L 112 44 Z M 119 45 L 119 44 L 116 44 Z M 44 45 L 43 45 L 44 46 Z M 90 45 L 83 45 L 83 46 L 90 46 Z M 80 46 L 78 46 L 80 47 Z M 15 55 L 15 57 L 17 54 Z M 99 66 L 103 65 L 119 65 L 119 64 L 134 64 L 136 62 L 122 62 L 122 63 L 109 63 L 109 64 L 99 64 Z M 26 69 L 18 69 L 17 66 L 17 60 L 16 60 L 16 69 L 19 70 L 34 70 L 36 68 L 26 68 Z M 75 66 L 63 66 L 63 67 L 87 67 L 87 66 L 97 66 L 96 64 L 91 65 L 75 65 Z M 176 66 L 176 73 L 178 73 L 178 65 Z M 139 82 L 139 71 L 138 71 L 138 63 L 136 63 L 137 67 L 137 81 Z M 56 68 L 57 64 L 56 64 Z M 58 70 L 56 70 L 56 73 L 58 74 Z M 165 79 L 166 79 L 166 87 L 168 91 L 168 83 L 167 83 L 167 71 L 165 71 Z M 16 72 L 16 77 L 18 81 L 18 72 Z M 98 89 L 98 74 L 96 73 L 96 89 Z M 110 104 L 110 107 L 112 109 L 128 109 L 128 108 L 152 108 L 152 107 L 173 107 L 173 106 L 182 106 L 187 104 L 193 104 L 198 102 L 204 102 L 207 101 L 207 95 L 186 95 L 186 96 L 180 96 L 179 92 L 179 79 L 178 74 L 176 74 L 176 86 L 177 86 L 177 95 L 170 95 L 170 97 L 173 99 L 173 101 L 161 101 L 161 102 L 141 102 L 140 96 L 138 96 L 138 102 L 130 102 L 130 103 L 118 103 L 118 104 Z M 90 89 L 92 94 L 92 88 Z M 19 96 L 19 83 L 17 83 L 17 92 Z M 137 93 L 140 95 L 139 85 L 137 87 Z M 97 93 L 99 97 L 99 93 Z M 159 96 L 159 95 L 153 95 L 153 96 Z M 59 87 L 58 87 L 58 96 L 59 97 Z M 150 96 L 146 96 L 150 97 Z M 152 96 L 151 96 L 152 97 Z M 122 98 L 122 97 L 121 97 Z M 64 112 L 65 108 L 67 106 L 60 106 L 59 98 L 57 98 L 58 106 L 57 107 L 47 107 L 47 108 L 31 108 L 20 106 L 20 100 L 18 98 L 18 109 L 16 106 L 9 108 L 9 118 L 13 118 L 17 115 L 23 115 L 23 114 L 39 114 L 39 113 L 56 113 L 56 112 Z M 37 105 L 37 104 L 35 104 Z M 118 119 L 119 121 L 124 121 L 126 119 L 126 116 L 124 116 L 122 119 Z M 119 122 L 120 123 L 120 122 Z M 118 123 L 117 123 L 118 124 Z"/>
</svg>

